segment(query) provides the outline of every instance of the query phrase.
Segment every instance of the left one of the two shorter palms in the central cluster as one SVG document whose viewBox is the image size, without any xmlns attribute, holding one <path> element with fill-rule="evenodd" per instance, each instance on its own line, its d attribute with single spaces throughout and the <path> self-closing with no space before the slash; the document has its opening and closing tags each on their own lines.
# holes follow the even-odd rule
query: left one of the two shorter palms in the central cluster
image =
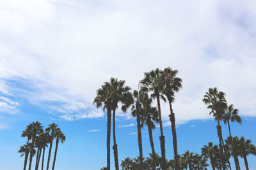
<svg viewBox="0 0 256 170">
<path fill-rule="evenodd" d="M 132 104 L 131 113 L 132 117 L 136 117 L 137 122 L 137 135 L 138 135 L 138 145 L 139 145 L 139 151 L 140 151 L 140 168 L 143 169 L 143 152 L 142 152 L 142 139 L 141 139 L 141 127 L 143 127 L 143 113 L 145 110 L 143 110 L 143 91 L 140 90 L 139 92 L 137 90 L 133 91 L 133 97 L 134 97 L 134 104 Z"/>
</svg>

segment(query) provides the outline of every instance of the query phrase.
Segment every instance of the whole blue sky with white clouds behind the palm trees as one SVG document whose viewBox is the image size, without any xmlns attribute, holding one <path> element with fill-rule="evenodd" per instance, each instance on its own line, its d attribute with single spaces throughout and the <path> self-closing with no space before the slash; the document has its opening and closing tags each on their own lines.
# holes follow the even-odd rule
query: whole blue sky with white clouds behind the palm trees
<svg viewBox="0 0 256 170">
<path fill-rule="evenodd" d="M 92 104 L 96 90 L 111 77 L 136 90 L 143 73 L 168 66 L 183 80 L 173 103 L 179 153 L 199 153 L 209 141 L 218 143 L 216 122 L 202 103 L 209 87 L 225 92 L 228 104 L 239 109 L 243 124 L 232 124 L 233 136 L 255 144 L 255 5 L 253 0 L 1 0 L 1 167 L 22 167 L 17 151 L 26 139 L 20 135 L 36 120 L 44 127 L 56 122 L 67 136 L 57 170 L 106 166 L 106 113 Z M 171 159 L 170 113 L 167 103 L 161 101 L 161 107 Z M 135 124 L 130 111 L 117 111 L 119 162 L 138 155 Z M 223 125 L 223 136 L 227 132 Z M 143 133 L 147 157 L 147 127 Z M 159 128 L 154 142 L 160 153 Z M 248 158 L 249 166 L 256 169 L 253 160 Z M 112 155 L 112 167 L 113 161 Z"/>
</svg>

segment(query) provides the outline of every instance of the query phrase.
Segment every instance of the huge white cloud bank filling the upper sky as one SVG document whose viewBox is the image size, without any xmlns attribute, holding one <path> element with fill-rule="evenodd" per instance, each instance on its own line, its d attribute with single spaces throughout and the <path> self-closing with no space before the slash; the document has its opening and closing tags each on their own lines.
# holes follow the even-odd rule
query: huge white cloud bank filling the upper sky
<svg viewBox="0 0 256 170">
<path fill-rule="evenodd" d="M 255 117 L 254 6 L 253 0 L 148 1 L 147 6 L 143 1 L 5 0 L 0 91 L 16 96 L 19 90 L 30 103 L 66 120 L 102 117 L 98 111 L 81 113 L 95 110 L 93 97 L 104 81 L 114 76 L 137 89 L 143 72 L 171 66 L 183 80 L 173 103 L 177 122 L 210 118 L 202 103 L 209 87 L 226 92 L 241 115 Z M 168 104 L 161 106 L 168 121 Z"/>
</svg>

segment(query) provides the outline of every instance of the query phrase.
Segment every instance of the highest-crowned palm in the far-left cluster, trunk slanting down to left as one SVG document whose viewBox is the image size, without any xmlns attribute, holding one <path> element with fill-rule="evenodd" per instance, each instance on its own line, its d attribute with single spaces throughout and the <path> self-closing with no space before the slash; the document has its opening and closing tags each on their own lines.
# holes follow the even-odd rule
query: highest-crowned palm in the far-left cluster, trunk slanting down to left
<svg viewBox="0 0 256 170">
<path fill-rule="evenodd" d="M 32 132 L 32 142 L 31 142 L 31 150 L 30 150 L 30 157 L 29 157 L 29 170 L 31 170 L 31 164 L 32 164 L 32 157 L 33 157 L 33 150 L 35 146 L 35 138 L 37 134 L 41 134 L 43 132 L 42 125 L 36 121 L 33 122 L 32 124 L 29 124 L 31 126 L 31 132 Z"/>
</svg>

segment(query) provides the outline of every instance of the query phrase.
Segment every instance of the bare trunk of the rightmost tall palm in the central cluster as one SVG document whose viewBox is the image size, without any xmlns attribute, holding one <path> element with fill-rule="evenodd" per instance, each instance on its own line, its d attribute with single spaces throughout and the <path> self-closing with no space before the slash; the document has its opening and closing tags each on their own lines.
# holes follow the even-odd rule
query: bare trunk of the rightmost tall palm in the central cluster
<svg viewBox="0 0 256 170">
<path fill-rule="evenodd" d="M 172 143 L 173 143 L 173 151 L 174 151 L 174 159 L 175 159 L 175 169 L 179 170 L 179 160 L 178 160 L 178 146 L 177 146 L 177 134 L 176 134 L 176 127 L 175 127 L 175 114 L 173 113 L 172 110 L 172 103 L 169 101 L 170 105 L 170 111 L 171 114 L 169 115 L 170 117 L 170 122 L 172 123 Z"/>
</svg>

